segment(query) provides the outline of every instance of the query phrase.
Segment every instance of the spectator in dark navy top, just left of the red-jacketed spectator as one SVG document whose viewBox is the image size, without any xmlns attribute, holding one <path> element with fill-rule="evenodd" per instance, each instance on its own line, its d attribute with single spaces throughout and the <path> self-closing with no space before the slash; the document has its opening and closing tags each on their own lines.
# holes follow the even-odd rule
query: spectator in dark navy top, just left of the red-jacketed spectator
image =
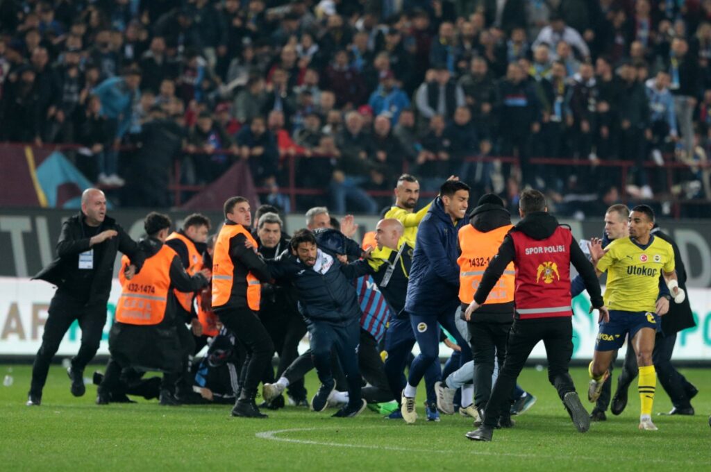
<svg viewBox="0 0 711 472">
<path fill-rule="evenodd" d="M 252 118 L 250 125 L 237 134 L 237 144 L 240 146 L 240 158 L 250 165 L 255 184 L 274 183 L 279 166 L 279 149 L 264 118 Z"/>
</svg>

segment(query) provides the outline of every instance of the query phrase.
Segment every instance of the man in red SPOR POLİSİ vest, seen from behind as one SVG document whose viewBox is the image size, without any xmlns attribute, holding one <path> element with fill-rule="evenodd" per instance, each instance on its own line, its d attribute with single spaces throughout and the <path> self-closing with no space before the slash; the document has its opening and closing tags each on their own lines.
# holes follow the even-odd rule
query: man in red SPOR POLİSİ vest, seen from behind
<svg viewBox="0 0 711 472">
<path fill-rule="evenodd" d="M 474 311 L 486 303 L 495 288 L 498 289 L 496 284 L 513 261 L 515 319 L 508 334 L 503 367 L 484 409 L 483 424 L 476 431 L 466 434 L 474 441 L 491 441 L 499 415 L 509 408 L 516 378 L 540 340 L 545 343 L 548 380 L 555 386 L 573 424 L 580 432 L 590 427 L 590 419 L 568 372 L 573 349 L 571 262 L 581 274 L 592 306 L 600 311 L 600 318 L 607 318 L 609 314 L 602 301 L 592 264 L 578 246 L 570 228 L 560 226 L 547 211 L 542 193 L 533 189 L 521 193 L 519 214 L 522 220 L 504 237 L 498 254 L 481 277 L 474 301 L 464 313 L 466 320 L 471 321 Z"/>
</svg>

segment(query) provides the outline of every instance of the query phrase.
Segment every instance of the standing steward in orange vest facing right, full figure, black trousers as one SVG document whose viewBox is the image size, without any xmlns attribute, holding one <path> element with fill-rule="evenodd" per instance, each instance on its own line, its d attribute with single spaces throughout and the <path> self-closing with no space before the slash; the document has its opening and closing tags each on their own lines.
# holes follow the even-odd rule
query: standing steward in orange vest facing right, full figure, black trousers
<svg viewBox="0 0 711 472">
<path fill-rule="evenodd" d="M 225 224 L 218 234 L 213 255 L 213 311 L 247 350 L 240 375 L 241 392 L 232 416 L 266 418 L 257 404 L 257 387 L 272 362 L 274 343 L 257 318 L 262 286 L 271 281 L 269 269 L 250 233 L 252 213 L 244 197 L 230 197 L 224 205 Z M 250 247 L 245 245 L 250 243 Z"/>
</svg>

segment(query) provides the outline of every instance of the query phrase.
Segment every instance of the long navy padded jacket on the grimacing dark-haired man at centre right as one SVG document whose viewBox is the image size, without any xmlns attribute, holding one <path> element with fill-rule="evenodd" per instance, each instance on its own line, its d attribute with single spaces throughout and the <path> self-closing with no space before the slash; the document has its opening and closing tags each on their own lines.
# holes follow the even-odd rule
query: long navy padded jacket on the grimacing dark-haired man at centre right
<svg viewBox="0 0 711 472">
<path fill-rule="evenodd" d="M 434 315 L 441 313 L 445 306 L 459 303 L 457 234 L 468 223 L 466 216 L 454 225 L 444 213 L 442 198 L 434 199 L 417 230 L 405 301 L 407 313 Z"/>
</svg>

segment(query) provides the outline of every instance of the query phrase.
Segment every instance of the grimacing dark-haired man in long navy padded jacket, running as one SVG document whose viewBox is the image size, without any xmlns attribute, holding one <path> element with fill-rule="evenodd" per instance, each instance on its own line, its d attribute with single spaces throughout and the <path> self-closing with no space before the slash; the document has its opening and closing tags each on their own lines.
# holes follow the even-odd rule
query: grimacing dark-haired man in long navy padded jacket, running
<svg viewBox="0 0 711 472">
<path fill-rule="evenodd" d="M 467 208 L 469 186 L 447 181 L 419 224 L 405 301 L 405 311 L 410 314 L 420 350 L 412 361 L 410 377 L 402 390 L 401 412 L 407 423 L 417 419 L 415 396 L 419 381 L 427 368 L 439 361 L 439 326 L 454 336 L 457 344 L 466 346 L 454 325 L 454 313 L 459 300 L 457 234 L 468 222 Z M 463 360 L 466 362 L 469 358 Z"/>
</svg>

